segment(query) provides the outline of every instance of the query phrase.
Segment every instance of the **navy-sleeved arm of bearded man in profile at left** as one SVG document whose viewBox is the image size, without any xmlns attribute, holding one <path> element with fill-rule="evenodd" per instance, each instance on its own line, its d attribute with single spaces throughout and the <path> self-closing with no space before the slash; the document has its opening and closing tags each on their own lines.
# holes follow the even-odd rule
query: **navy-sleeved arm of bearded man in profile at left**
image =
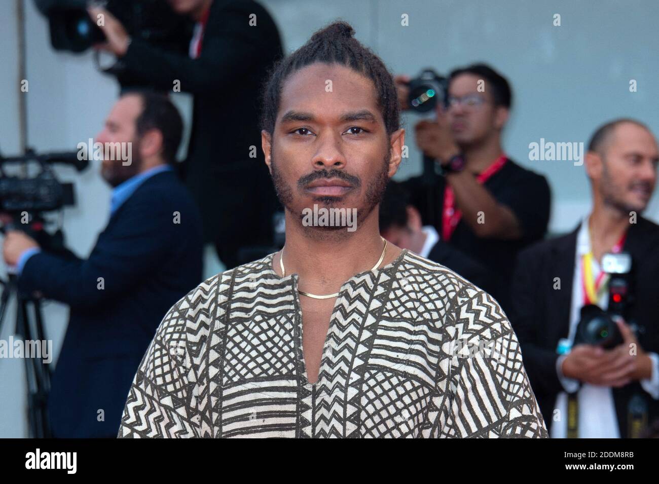
<svg viewBox="0 0 659 484">
<path fill-rule="evenodd" d="M 158 271 L 172 240 L 167 233 L 172 218 L 163 211 L 153 212 L 144 203 L 125 207 L 121 221 L 100 234 L 88 259 L 43 251 L 32 255 L 22 268 L 19 288 L 74 307 L 94 307 L 130 291 Z"/>
</svg>

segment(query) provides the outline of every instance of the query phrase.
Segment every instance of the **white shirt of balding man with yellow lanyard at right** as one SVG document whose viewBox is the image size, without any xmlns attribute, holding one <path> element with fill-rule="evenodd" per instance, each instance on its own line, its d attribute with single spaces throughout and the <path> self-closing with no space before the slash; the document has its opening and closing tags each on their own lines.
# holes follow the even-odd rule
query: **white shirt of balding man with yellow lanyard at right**
<svg viewBox="0 0 659 484">
<path fill-rule="evenodd" d="M 590 235 L 588 234 L 588 217 L 581 222 L 581 227 L 577 234 L 577 251 L 575 254 L 575 271 L 572 281 L 572 302 L 570 306 L 570 329 L 569 340 L 574 341 L 577 324 L 583 306 L 583 282 L 581 275 L 581 257 L 590 252 Z M 600 273 L 600 263 L 592 257 L 592 274 Z M 598 306 L 606 309 L 608 306 L 608 291 L 602 291 Z M 650 379 L 641 380 L 641 386 L 648 392 L 652 398 L 659 399 L 659 356 L 655 353 L 649 354 L 652 358 L 652 375 Z M 561 364 L 565 360 L 565 355 L 558 358 L 556 362 L 556 371 L 559 380 L 565 392 L 560 392 L 556 398 L 555 409 L 560 411 L 561 418 L 552 422 L 551 437 L 552 439 L 564 439 L 567 437 L 567 393 L 579 388 L 579 382 L 569 379 L 561 373 Z M 619 439 L 616 408 L 614 405 L 613 392 L 611 387 L 600 387 L 583 383 L 581 389 L 577 392 L 577 402 L 579 406 L 579 438 L 596 439 L 610 438 Z M 556 412 L 556 410 L 554 410 Z"/>
</svg>

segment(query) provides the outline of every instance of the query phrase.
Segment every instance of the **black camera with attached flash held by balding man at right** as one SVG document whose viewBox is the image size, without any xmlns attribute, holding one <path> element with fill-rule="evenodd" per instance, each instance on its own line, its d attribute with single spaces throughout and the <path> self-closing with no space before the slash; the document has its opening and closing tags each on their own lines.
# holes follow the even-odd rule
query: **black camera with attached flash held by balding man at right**
<svg viewBox="0 0 659 484">
<path fill-rule="evenodd" d="M 616 318 L 626 319 L 633 299 L 629 290 L 631 255 L 627 252 L 605 254 L 602 257 L 602 271 L 610 275 L 608 307 L 606 311 L 595 304 L 581 308 L 574 344 L 594 344 L 609 350 L 623 342 Z"/>
</svg>

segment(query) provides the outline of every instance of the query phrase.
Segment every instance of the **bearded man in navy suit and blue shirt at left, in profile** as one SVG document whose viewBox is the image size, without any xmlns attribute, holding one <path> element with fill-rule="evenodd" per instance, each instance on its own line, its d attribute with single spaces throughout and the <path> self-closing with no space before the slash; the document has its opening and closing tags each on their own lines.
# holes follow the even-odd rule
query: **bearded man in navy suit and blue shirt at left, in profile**
<svg viewBox="0 0 659 484">
<path fill-rule="evenodd" d="M 200 217 L 173 171 L 182 128 L 163 95 L 117 101 L 96 142 L 130 144 L 131 156 L 103 159 L 111 215 L 86 259 L 7 232 L 3 256 L 18 272 L 18 289 L 71 307 L 48 400 L 54 437 L 117 435 L 130 381 L 158 324 L 202 279 Z"/>
</svg>

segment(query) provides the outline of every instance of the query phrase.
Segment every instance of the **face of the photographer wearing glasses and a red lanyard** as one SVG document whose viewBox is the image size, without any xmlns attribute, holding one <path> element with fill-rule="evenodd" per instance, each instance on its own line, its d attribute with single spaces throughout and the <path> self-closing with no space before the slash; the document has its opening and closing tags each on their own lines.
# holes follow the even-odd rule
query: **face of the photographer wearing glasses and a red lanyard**
<svg viewBox="0 0 659 484">
<path fill-rule="evenodd" d="M 480 144 L 501 130 L 507 119 L 507 109 L 494 105 L 487 82 L 484 92 L 478 92 L 478 80 L 474 74 L 460 74 L 449 84 L 449 99 L 461 101 L 447 111 L 453 138 L 461 148 Z"/>
</svg>

